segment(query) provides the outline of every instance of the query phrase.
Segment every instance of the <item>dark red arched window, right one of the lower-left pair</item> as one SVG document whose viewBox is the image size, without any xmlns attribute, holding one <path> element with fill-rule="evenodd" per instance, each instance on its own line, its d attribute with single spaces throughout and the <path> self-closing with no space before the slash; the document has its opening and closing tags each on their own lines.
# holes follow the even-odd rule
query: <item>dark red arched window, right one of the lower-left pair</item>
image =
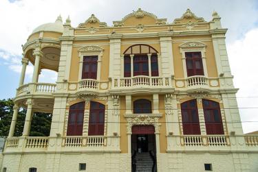
<svg viewBox="0 0 258 172">
<path fill-rule="evenodd" d="M 89 110 L 89 136 L 103 136 L 105 125 L 105 105 L 91 101 Z"/>
</svg>

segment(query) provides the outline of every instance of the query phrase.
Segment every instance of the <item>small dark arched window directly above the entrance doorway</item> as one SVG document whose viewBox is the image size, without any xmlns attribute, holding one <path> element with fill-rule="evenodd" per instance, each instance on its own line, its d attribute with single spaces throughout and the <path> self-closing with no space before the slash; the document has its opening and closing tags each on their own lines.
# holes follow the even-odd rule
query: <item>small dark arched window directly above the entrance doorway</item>
<svg viewBox="0 0 258 172">
<path fill-rule="evenodd" d="M 151 101 L 147 99 L 138 99 L 133 101 L 134 114 L 151 114 Z"/>
</svg>

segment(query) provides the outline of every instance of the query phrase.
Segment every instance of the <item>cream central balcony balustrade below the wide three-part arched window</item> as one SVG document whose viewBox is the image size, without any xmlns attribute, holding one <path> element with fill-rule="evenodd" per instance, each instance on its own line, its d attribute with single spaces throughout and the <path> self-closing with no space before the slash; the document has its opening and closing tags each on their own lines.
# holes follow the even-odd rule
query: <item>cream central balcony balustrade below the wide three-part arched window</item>
<svg viewBox="0 0 258 172">
<path fill-rule="evenodd" d="M 127 92 L 173 92 L 171 77 L 149 77 L 139 75 L 135 77 L 112 78 L 111 93 Z"/>
</svg>

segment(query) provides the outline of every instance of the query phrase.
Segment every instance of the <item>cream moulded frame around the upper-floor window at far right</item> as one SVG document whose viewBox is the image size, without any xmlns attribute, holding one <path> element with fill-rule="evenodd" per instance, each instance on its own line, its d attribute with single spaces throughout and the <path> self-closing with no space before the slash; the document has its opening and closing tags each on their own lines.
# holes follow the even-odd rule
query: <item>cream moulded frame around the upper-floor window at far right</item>
<svg viewBox="0 0 258 172">
<path fill-rule="evenodd" d="M 204 77 L 208 77 L 207 64 L 206 64 L 206 45 L 202 42 L 184 42 L 182 45 L 180 45 L 180 53 L 182 55 L 184 78 L 188 77 L 187 68 L 186 68 L 186 53 L 195 53 L 195 52 L 201 53 Z"/>
</svg>

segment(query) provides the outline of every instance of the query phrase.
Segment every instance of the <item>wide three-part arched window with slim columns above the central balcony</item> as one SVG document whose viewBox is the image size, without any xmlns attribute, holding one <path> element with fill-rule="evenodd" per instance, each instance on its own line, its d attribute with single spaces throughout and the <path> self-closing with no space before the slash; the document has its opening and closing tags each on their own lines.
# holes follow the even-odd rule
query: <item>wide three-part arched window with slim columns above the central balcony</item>
<svg viewBox="0 0 258 172">
<path fill-rule="evenodd" d="M 124 53 L 124 77 L 131 77 L 131 72 L 133 72 L 133 76 L 149 76 L 149 74 L 158 76 L 157 53 L 158 51 L 149 45 L 133 45 L 129 47 Z M 133 55 L 133 59 L 131 59 L 130 55 Z M 133 66 L 131 66 L 131 62 L 133 62 Z"/>
</svg>

